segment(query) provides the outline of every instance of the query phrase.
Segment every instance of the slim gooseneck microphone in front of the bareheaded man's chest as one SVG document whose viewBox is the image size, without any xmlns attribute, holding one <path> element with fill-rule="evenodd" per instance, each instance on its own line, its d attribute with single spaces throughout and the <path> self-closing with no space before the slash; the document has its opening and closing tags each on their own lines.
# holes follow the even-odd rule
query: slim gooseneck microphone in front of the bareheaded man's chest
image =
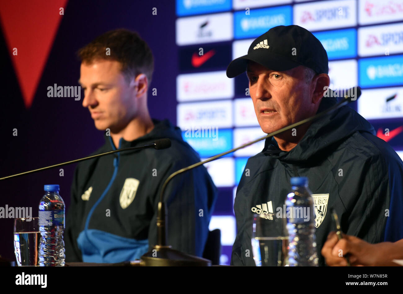
<svg viewBox="0 0 403 294">
<path fill-rule="evenodd" d="M 116 149 L 116 150 L 112 150 L 112 151 L 108 151 L 108 152 L 104 152 L 104 153 L 100 153 L 100 154 L 95 154 L 95 155 L 75 159 L 75 160 L 72 160 L 72 161 L 66 161 L 64 163 L 58 163 L 57 165 L 50 165 L 48 167 L 42 167 L 40 169 L 33 169 L 32 171 L 25 171 L 23 173 L 17 173 L 15 175 L 9 175 L 7 177 L 1 177 L 0 181 L 2 181 L 4 179 L 10 179 L 12 177 L 18 177 L 20 175 L 27 175 L 29 173 L 35 173 L 37 171 L 44 171 L 46 169 L 52 169 L 54 167 L 60 167 L 62 165 L 69 165 L 71 163 L 76 163 L 76 162 L 79 162 L 79 161 L 85 161 L 87 159 L 97 158 L 97 157 L 113 154 L 113 153 L 116 153 L 116 152 L 123 152 L 123 151 L 130 151 L 130 150 L 142 150 L 142 149 L 147 149 L 147 148 L 154 148 L 156 150 L 161 150 L 161 149 L 169 148 L 170 146 L 171 146 L 171 140 L 169 140 L 167 138 L 158 139 L 152 144 L 148 144 L 148 145 L 144 145 L 144 146 L 140 146 L 140 147 L 128 147 L 128 148 L 123 148 L 123 149 Z"/>
</svg>

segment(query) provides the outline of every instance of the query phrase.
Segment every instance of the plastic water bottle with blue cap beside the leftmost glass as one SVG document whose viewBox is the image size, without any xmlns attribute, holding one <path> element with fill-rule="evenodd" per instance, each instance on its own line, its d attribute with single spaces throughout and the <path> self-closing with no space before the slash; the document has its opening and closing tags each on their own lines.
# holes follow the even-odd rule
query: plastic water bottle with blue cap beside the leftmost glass
<svg viewBox="0 0 403 294">
<path fill-rule="evenodd" d="M 45 185 L 39 202 L 39 266 L 64 266 L 64 202 L 59 185 Z"/>
</svg>

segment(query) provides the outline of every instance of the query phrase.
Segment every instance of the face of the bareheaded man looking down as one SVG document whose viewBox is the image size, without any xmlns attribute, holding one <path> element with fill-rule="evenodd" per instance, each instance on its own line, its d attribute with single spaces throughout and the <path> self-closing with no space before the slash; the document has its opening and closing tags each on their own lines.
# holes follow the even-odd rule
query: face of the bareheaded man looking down
<svg viewBox="0 0 403 294">
<path fill-rule="evenodd" d="M 99 130 L 123 129 L 136 116 L 136 87 L 120 71 L 120 63 L 94 60 L 82 63 L 80 80 L 84 89 L 83 107 L 87 107 Z"/>
</svg>

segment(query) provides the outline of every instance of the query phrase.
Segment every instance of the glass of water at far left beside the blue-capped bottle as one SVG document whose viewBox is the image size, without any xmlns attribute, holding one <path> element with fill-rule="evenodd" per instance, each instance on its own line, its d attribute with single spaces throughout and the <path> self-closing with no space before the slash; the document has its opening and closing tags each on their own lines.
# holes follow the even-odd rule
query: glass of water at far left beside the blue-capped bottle
<svg viewBox="0 0 403 294">
<path fill-rule="evenodd" d="M 39 226 L 38 217 L 14 219 L 14 252 L 17 264 L 38 266 Z"/>
</svg>

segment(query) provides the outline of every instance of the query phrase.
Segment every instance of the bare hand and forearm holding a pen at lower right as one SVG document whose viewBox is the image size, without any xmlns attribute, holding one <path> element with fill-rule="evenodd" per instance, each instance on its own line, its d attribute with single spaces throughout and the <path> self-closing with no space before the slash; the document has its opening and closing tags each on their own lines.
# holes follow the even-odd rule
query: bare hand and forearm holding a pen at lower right
<svg viewBox="0 0 403 294">
<path fill-rule="evenodd" d="M 395 243 L 370 244 L 345 234 L 343 239 L 339 240 L 336 232 L 330 232 L 322 247 L 322 255 L 326 265 L 330 266 L 346 266 L 346 256 L 352 266 L 397 266 L 399 264 L 393 260 L 403 261 L 403 239 Z"/>
</svg>

